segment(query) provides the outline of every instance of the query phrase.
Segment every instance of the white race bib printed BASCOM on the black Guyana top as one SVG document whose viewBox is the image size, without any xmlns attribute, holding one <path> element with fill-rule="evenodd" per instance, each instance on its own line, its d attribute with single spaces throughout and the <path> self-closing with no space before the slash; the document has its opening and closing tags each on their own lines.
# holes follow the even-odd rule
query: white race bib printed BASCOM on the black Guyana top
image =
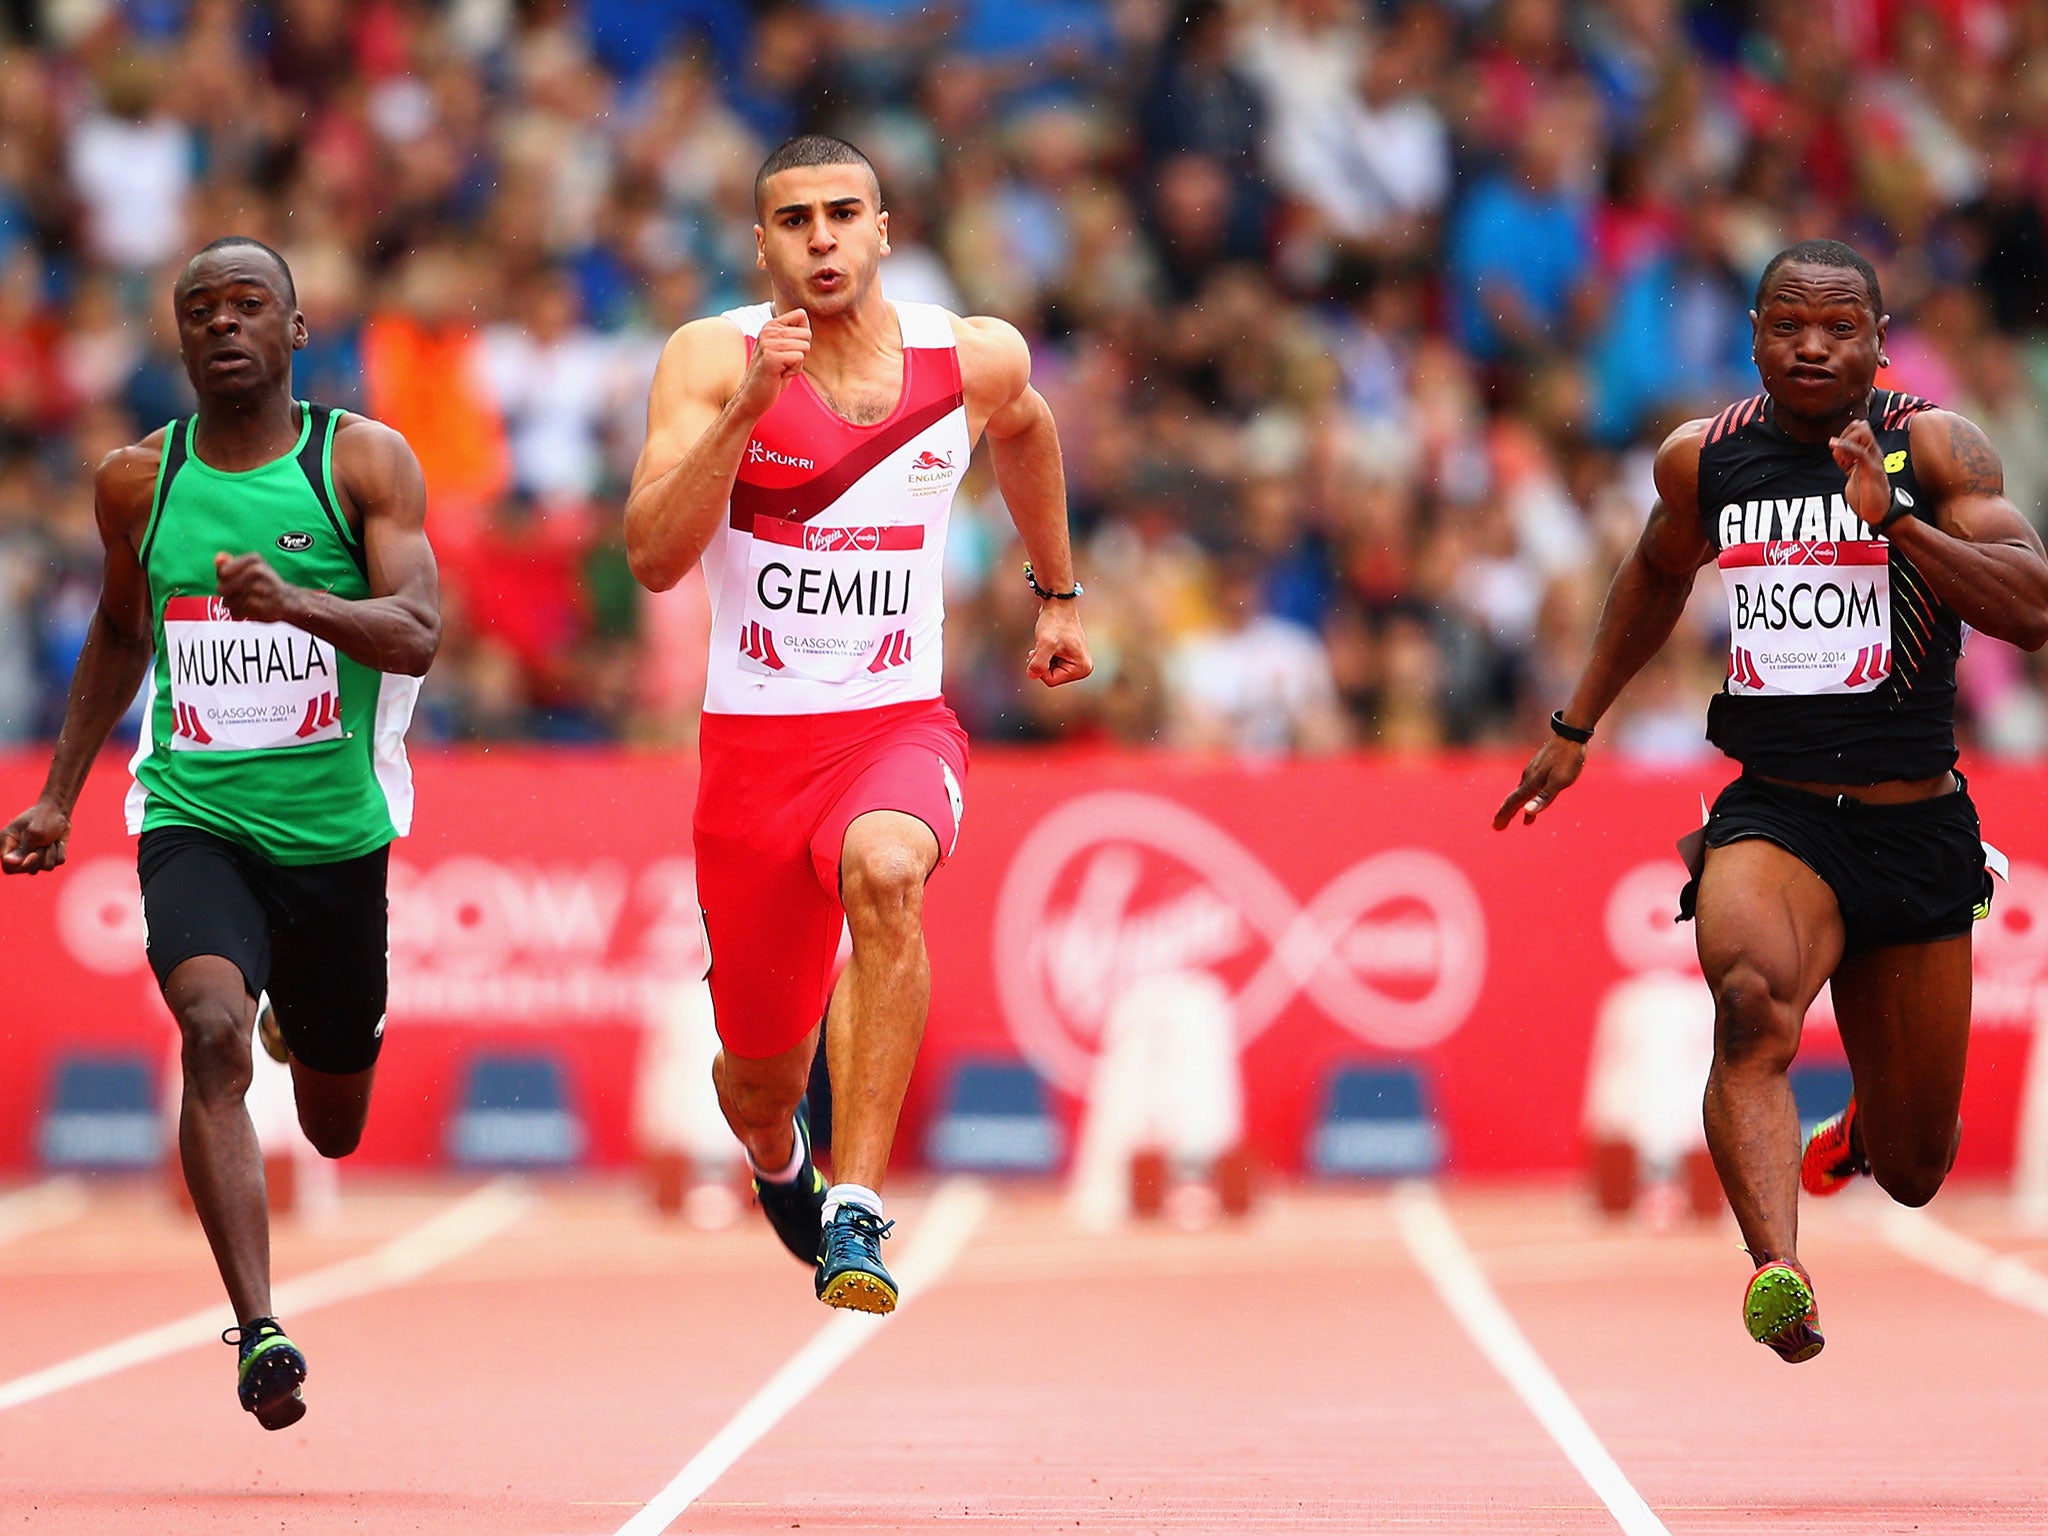
<svg viewBox="0 0 2048 1536">
<path fill-rule="evenodd" d="M 1720 551 L 1731 694 L 1868 694 L 1892 674 L 1884 539 L 1784 539 Z"/>
</svg>

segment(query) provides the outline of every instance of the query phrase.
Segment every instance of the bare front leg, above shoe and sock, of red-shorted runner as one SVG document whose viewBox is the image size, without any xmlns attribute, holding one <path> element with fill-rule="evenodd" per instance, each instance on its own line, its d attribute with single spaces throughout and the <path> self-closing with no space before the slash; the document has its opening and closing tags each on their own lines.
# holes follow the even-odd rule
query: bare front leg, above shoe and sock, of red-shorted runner
<svg viewBox="0 0 2048 1536">
<path fill-rule="evenodd" d="M 924 950 L 924 883 L 938 836 L 907 811 L 868 811 L 846 827 L 840 901 L 854 956 L 831 993 L 831 1174 L 881 1190 L 924 1022 L 932 963 Z"/>
</svg>

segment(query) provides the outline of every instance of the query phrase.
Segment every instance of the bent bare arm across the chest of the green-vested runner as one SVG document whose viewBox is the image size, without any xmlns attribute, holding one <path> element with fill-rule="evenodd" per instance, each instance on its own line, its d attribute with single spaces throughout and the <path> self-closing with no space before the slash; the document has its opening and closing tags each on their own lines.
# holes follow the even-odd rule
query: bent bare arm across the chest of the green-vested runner
<svg viewBox="0 0 2048 1536">
<path fill-rule="evenodd" d="M 338 598 L 293 586 L 258 553 L 213 557 L 236 618 L 287 623 L 379 672 L 426 676 L 440 649 L 440 571 L 426 543 L 426 477 L 383 422 L 348 416 L 334 430 L 334 489 L 369 563 L 371 594 Z"/>
</svg>

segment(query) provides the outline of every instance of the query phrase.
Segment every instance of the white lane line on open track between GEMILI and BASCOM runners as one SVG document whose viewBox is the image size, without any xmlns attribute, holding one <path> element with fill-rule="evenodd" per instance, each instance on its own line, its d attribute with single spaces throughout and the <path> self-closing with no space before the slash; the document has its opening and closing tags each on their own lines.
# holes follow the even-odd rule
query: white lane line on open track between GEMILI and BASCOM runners
<svg viewBox="0 0 2048 1536">
<path fill-rule="evenodd" d="M 1599 1444 L 1593 1425 L 1585 1421 L 1571 1395 L 1565 1393 L 1550 1366 L 1524 1337 L 1516 1319 L 1493 1294 L 1485 1270 L 1464 1245 L 1458 1229 L 1427 1184 L 1401 1184 L 1393 1196 L 1395 1227 L 1409 1255 L 1430 1276 L 1436 1294 L 1464 1327 L 1487 1362 L 1501 1372 L 1536 1423 L 1556 1442 L 1565 1458 L 1579 1470 L 1608 1513 L 1628 1536 L 1671 1536 L 1665 1524 L 1642 1501 L 1634 1485 Z"/>
</svg>

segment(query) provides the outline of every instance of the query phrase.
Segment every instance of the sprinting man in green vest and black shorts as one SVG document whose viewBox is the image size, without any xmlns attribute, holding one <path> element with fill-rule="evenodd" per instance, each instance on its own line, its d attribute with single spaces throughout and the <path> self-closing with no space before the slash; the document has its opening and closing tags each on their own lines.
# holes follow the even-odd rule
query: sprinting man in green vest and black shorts
<svg viewBox="0 0 2048 1536">
<path fill-rule="evenodd" d="M 147 678 L 127 821 L 150 967 L 182 1034 L 178 1155 L 236 1307 L 242 1407 L 283 1430 L 305 1413 L 305 1356 L 270 1315 L 250 1032 L 268 991 L 299 1124 L 328 1157 L 354 1151 L 440 592 L 406 440 L 291 395 L 305 317 L 285 260 L 215 240 L 172 301 L 199 414 L 98 469 L 100 606 L 43 795 L 0 829 L 0 870 L 63 862 L 86 772 Z"/>
</svg>

